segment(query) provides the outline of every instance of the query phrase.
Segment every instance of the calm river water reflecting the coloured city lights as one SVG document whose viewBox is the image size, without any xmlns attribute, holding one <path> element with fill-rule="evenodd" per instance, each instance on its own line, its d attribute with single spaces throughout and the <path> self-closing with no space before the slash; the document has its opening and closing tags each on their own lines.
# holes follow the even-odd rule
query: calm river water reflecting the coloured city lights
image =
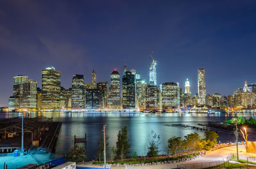
<svg viewBox="0 0 256 169">
<path fill-rule="evenodd" d="M 172 136 L 180 136 L 182 139 L 189 133 L 196 132 L 201 138 L 204 138 L 204 131 L 195 131 L 188 128 L 172 127 L 172 124 L 189 124 L 197 126 L 206 124 L 209 121 L 227 121 L 232 117 L 244 116 L 255 117 L 255 114 L 143 114 L 136 112 L 118 112 L 118 113 L 87 113 L 87 112 L 32 112 L 30 117 L 44 115 L 53 117 L 53 121 L 62 122 L 60 137 L 56 143 L 56 154 L 63 154 L 68 151 L 70 146 L 74 145 L 74 135 L 84 137 L 87 135 L 87 143 L 78 143 L 86 149 L 88 159 L 96 158 L 97 142 L 102 136 L 103 125 L 107 124 L 106 133 L 109 136 L 108 143 L 110 147 L 115 146 L 117 134 L 120 129 L 127 126 L 129 143 L 131 144 L 130 154 L 137 152 L 144 156 L 145 144 L 152 129 L 161 137 L 159 146 L 160 154 L 166 153 L 167 140 Z M 17 113 L 2 113 L 0 119 L 17 117 Z M 232 135 L 220 134 L 220 142 L 234 142 Z"/>
</svg>

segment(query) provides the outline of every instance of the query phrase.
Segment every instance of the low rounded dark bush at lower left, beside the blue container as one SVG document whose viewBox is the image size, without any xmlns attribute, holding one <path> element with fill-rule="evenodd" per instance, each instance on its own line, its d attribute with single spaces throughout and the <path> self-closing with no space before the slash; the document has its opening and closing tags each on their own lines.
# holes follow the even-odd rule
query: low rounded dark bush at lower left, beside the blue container
<svg viewBox="0 0 256 169">
<path fill-rule="evenodd" d="M 84 154 L 84 147 L 75 145 L 71 147 L 65 154 L 66 161 L 82 162 L 86 160 L 86 155 Z"/>
</svg>

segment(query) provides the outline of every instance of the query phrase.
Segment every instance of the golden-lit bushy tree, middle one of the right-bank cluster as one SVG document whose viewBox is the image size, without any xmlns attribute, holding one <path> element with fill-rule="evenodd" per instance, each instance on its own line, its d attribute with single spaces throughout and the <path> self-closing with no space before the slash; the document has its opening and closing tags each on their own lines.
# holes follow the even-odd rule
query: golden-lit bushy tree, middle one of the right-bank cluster
<svg viewBox="0 0 256 169">
<path fill-rule="evenodd" d="M 191 133 L 189 135 L 186 135 L 184 140 L 186 148 L 189 152 L 198 149 L 198 143 L 200 143 L 200 141 L 201 139 L 198 133 Z"/>
</svg>

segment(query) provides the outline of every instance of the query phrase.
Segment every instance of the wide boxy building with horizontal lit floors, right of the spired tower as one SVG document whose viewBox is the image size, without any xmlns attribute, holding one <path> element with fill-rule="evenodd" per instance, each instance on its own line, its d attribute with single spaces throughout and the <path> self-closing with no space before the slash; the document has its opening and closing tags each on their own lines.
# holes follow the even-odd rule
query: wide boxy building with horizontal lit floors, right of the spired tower
<svg viewBox="0 0 256 169">
<path fill-rule="evenodd" d="M 180 106 L 180 87 L 178 83 L 162 84 L 163 109 L 178 108 Z"/>
</svg>

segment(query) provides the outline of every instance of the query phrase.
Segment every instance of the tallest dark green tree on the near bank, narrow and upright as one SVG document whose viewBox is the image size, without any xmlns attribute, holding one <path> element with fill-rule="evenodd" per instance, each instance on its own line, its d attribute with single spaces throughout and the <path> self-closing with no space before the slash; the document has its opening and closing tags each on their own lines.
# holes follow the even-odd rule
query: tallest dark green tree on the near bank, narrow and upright
<svg viewBox="0 0 256 169">
<path fill-rule="evenodd" d="M 117 135 L 117 142 L 116 142 L 116 159 L 122 159 L 128 157 L 129 154 L 129 148 L 131 145 L 129 144 L 129 140 L 127 137 L 127 126 L 124 126 L 122 128 L 122 131 L 119 131 Z"/>
</svg>

